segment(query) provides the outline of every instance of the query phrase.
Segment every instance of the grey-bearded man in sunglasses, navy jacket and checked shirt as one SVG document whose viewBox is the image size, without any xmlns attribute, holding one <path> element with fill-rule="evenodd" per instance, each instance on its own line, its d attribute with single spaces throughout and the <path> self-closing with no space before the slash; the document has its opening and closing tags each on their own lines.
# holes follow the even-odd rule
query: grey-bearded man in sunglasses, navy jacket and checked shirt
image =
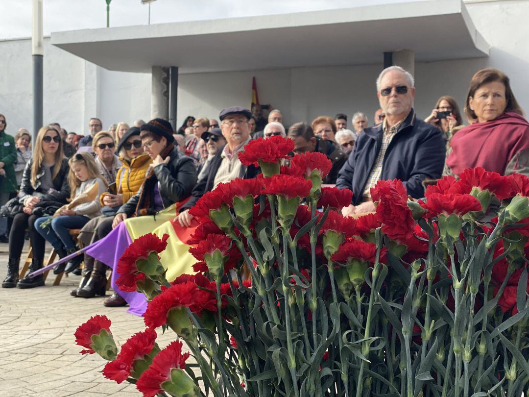
<svg viewBox="0 0 529 397">
<path fill-rule="evenodd" d="M 441 131 L 417 118 L 413 110 L 414 79 L 399 66 L 382 70 L 377 96 L 384 121 L 363 130 L 336 187 L 353 191 L 344 215 L 375 211 L 371 188 L 380 180 L 400 179 L 409 196 L 424 196 L 424 179 L 441 177 L 445 148 Z"/>
</svg>

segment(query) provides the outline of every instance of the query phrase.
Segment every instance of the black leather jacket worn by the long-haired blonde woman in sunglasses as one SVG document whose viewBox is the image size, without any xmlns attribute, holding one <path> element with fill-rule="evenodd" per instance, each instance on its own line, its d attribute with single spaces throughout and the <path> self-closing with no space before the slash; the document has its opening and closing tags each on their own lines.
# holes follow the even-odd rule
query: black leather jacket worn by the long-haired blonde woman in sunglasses
<svg viewBox="0 0 529 397">
<path fill-rule="evenodd" d="M 49 193 L 41 190 L 41 178 L 44 175 L 44 168 L 39 169 L 37 174 L 37 181 L 33 188 L 31 186 L 31 167 L 33 165 L 33 159 L 28 161 L 24 173 L 22 174 L 22 182 L 20 184 L 19 202 L 22 204 L 27 196 L 37 196 L 41 198 L 41 201 L 55 201 L 60 203 L 66 203 L 70 197 L 70 186 L 68 185 L 68 171 L 70 169 L 68 165 L 68 159 L 63 158 L 61 163 L 61 169 L 57 176 L 53 179 L 53 189 L 55 192 Z"/>
</svg>

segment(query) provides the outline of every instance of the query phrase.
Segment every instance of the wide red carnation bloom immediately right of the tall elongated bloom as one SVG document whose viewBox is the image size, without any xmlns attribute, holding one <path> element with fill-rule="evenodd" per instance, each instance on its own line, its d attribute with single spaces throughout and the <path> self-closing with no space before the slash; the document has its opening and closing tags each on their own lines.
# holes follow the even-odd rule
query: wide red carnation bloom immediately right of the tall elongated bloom
<svg viewBox="0 0 529 397">
<path fill-rule="evenodd" d="M 481 211 L 479 200 L 470 194 L 431 193 L 426 202 L 419 204 L 428 210 L 427 216 L 456 214 L 462 216 L 470 211 Z"/>
</svg>

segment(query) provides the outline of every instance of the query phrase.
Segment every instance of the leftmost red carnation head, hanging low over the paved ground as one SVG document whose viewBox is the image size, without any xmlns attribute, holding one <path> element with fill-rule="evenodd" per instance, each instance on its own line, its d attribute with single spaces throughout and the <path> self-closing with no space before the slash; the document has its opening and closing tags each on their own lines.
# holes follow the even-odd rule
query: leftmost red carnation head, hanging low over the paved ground
<svg viewBox="0 0 529 397">
<path fill-rule="evenodd" d="M 113 360 L 117 347 L 110 331 L 112 322 L 106 315 L 94 315 L 77 327 L 74 336 L 77 345 L 84 347 L 81 354 L 97 353 L 106 360 Z"/>
</svg>

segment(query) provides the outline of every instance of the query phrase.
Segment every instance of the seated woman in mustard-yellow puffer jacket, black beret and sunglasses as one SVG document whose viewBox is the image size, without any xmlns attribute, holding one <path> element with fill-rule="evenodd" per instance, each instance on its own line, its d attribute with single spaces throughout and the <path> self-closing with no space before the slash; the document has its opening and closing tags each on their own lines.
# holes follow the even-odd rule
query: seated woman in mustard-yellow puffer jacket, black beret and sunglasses
<svg viewBox="0 0 529 397">
<path fill-rule="evenodd" d="M 143 152 L 140 129 L 137 127 L 129 128 L 123 134 L 117 145 L 117 151 L 120 154 L 123 166 L 117 172 L 116 194 L 103 193 L 101 195 L 103 215 L 90 220 L 79 233 L 79 240 L 84 246 L 98 241 L 112 230 L 115 212 L 121 205 L 138 193 L 145 179 L 145 173 L 152 163 L 152 159 Z M 106 231 L 106 233 L 100 235 L 97 233 L 98 230 Z M 87 254 L 85 254 L 84 263 L 84 277 L 81 279 L 79 288 L 71 291 L 70 294 L 72 296 L 90 298 L 94 297 L 98 291 L 101 291 L 106 284 L 106 265 L 94 260 L 93 257 Z"/>
</svg>

